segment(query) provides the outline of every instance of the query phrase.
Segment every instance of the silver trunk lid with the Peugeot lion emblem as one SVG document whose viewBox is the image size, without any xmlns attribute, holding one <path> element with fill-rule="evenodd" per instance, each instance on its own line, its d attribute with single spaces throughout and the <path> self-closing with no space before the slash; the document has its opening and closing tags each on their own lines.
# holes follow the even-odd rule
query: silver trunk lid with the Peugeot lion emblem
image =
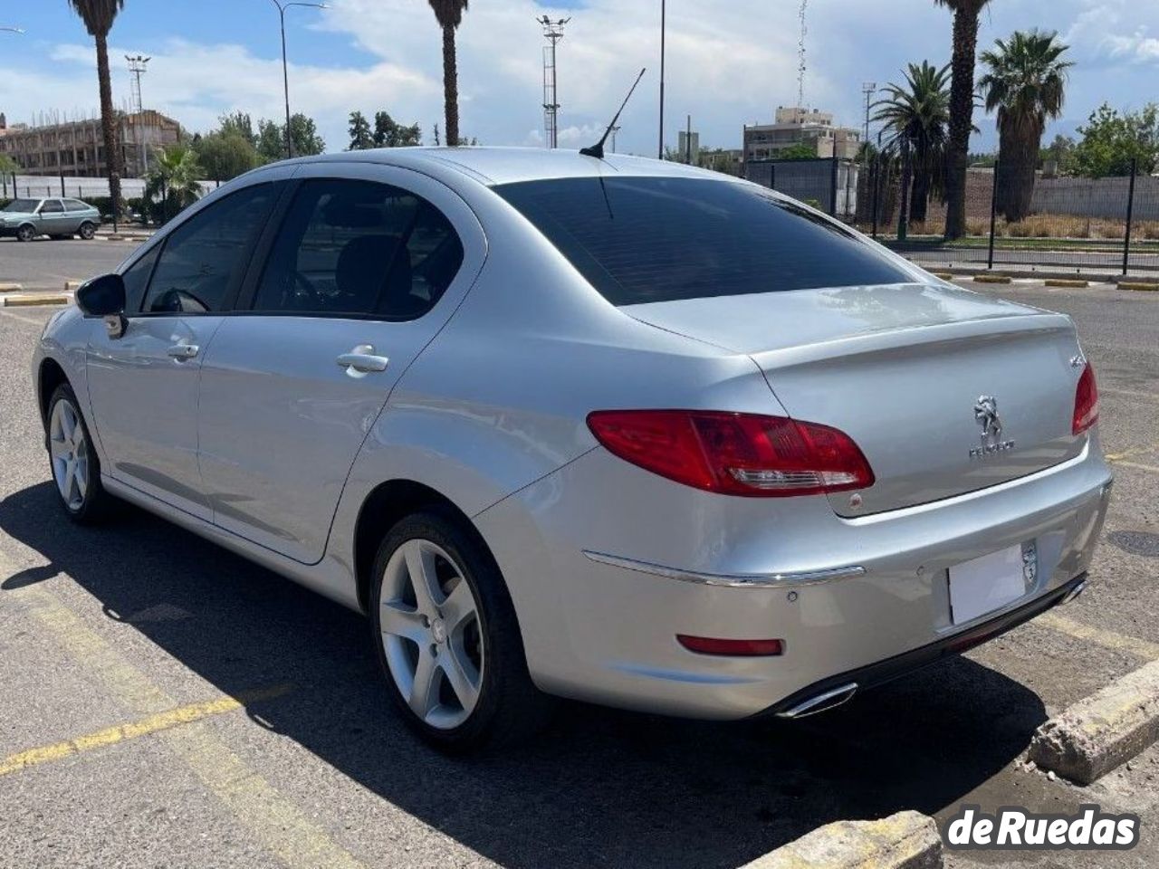
<svg viewBox="0 0 1159 869">
<path fill-rule="evenodd" d="M 920 284 L 621 311 L 751 356 L 790 416 L 852 437 L 876 482 L 830 496 L 844 517 L 998 485 L 1066 461 L 1086 441 L 1071 434 L 1080 351 L 1060 314 Z"/>
</svg>

